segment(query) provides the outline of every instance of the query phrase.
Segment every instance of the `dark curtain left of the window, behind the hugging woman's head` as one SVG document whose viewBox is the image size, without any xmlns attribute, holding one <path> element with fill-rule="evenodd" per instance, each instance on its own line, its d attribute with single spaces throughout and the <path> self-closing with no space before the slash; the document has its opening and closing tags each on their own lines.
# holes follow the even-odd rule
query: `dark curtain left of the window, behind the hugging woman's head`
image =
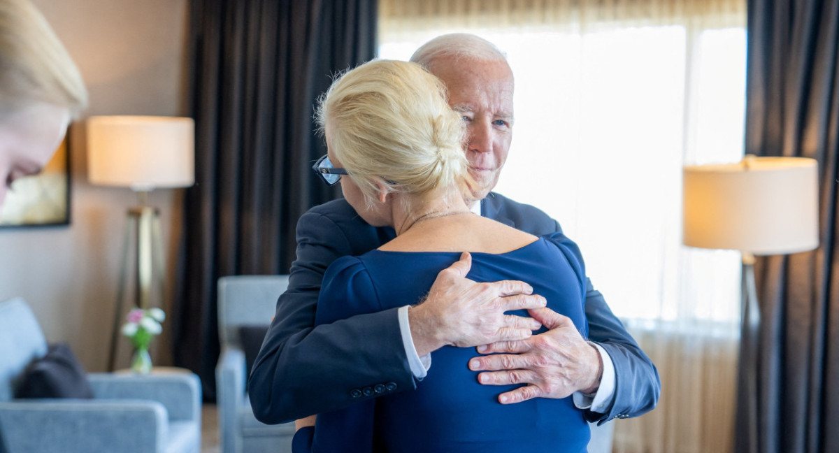
<svg viewBox="0 0 839 453">
<path fill-rule="evenodd" d="M 215 398 L 216 280 L 288 273 L 297 219 L 338 191 L 310 167 L 326 154 L 313 120 L 332 76 L 373 58 L 376 0 L 193 0 L 190 114 L 175 364 Z"/>
</svg>

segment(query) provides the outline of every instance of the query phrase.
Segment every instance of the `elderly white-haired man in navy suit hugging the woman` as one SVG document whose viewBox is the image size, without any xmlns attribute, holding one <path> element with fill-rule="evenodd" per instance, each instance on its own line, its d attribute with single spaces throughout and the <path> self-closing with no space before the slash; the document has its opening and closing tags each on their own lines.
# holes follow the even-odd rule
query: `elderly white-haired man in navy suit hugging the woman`
<svg viewBox="0 0 839 453">
<path fill-rule="evenodd" d="M 440 77 L 451 107 L 467 124 L 470 172 L 483 187 L 475 194 L 481 201 L 473 211 L 534 235 L 560 231 L 544 212 L 490 191 L 507 159 L 513 130 L 513 73 L 504 55 L 477 36 L 452 34 L 432 39 L 411 60 Z M 545 300 L 529 294 L 529 285 L 522 282 L 477 284 L 466 279 L 468 258 L 442 271 L 419 305 L 314 327 L 329 264 L 344 255 L 367 253 L 394 232 L 367 225 L 345 200 L 333 200 L 300 217 L 297 237 L 289 289 L 279 297 L 249 382 L 253 412 L 264 423 L 415 388 L 433 366 L 429 356 L 418 353 L 432 338 L 477 346 L 477 357 L 464 366 L 480 371 L 480 383 L 523 384 L 500 394 L 502 404 L 573 394 L 586 419 L 602 423 L 644 414 L 658 402 L 660 383 L 653 363 L 591 282 L 586 294 L 588 339 L 565 316 L 552 312 L 536 318 L 549 331 L 531 336 L 532 325 L 503 313 L 539 308 Z"/>
</svg>

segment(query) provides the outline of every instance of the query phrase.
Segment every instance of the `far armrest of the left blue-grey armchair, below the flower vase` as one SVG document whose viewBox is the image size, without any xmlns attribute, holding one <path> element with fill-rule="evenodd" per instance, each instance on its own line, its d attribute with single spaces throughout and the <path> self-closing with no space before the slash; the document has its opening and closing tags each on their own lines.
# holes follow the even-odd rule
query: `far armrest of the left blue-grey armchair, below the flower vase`
<svg viewBox="0 0 839 453">
<path fill-rule="evenodd" d="M 164 405 L 170 420 L 201 421 L 201 384 L 191 372 L 91 372 L 96 399 L 150 399 Z"/>
</svg>

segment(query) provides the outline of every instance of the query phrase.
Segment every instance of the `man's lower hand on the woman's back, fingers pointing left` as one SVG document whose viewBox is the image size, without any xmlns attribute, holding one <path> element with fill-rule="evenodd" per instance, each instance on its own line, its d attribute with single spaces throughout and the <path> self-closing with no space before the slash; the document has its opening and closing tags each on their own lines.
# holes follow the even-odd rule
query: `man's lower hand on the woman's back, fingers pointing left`
<svg viewBox="0 0 839 453">
<path fill-rule="evenodd" d="M 478 382 L 487 385 L 526 383 L 498 395 L 502 404 L 530 398 L 565 398 L 581 391 L 593 393 L 600 386 L 603 363 L 600 353 L 589 345 L 567 316 L 549 308 L 529 310 L 549 330 L 521 341 L 498 341 L 479 346 L 478 352 L 492 356 L 469 361 Z"/>
</svg>

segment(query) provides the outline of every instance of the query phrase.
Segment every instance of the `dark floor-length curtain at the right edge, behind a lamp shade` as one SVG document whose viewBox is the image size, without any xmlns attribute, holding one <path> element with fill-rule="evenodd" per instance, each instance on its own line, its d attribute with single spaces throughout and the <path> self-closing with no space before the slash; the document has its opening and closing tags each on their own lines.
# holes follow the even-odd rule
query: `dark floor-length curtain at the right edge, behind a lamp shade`
<svg viewBox="0 0 839 453">
<path fill-rule="evenodd" d="M 746 151 L 817 159 L 821 245 L 755 264 L 756 360 L 740 374 L 757 386 L 738 388 L 737 452 L 839 451 L 837 42 L 839 0 L 748 0 Z"/>
</svg>

